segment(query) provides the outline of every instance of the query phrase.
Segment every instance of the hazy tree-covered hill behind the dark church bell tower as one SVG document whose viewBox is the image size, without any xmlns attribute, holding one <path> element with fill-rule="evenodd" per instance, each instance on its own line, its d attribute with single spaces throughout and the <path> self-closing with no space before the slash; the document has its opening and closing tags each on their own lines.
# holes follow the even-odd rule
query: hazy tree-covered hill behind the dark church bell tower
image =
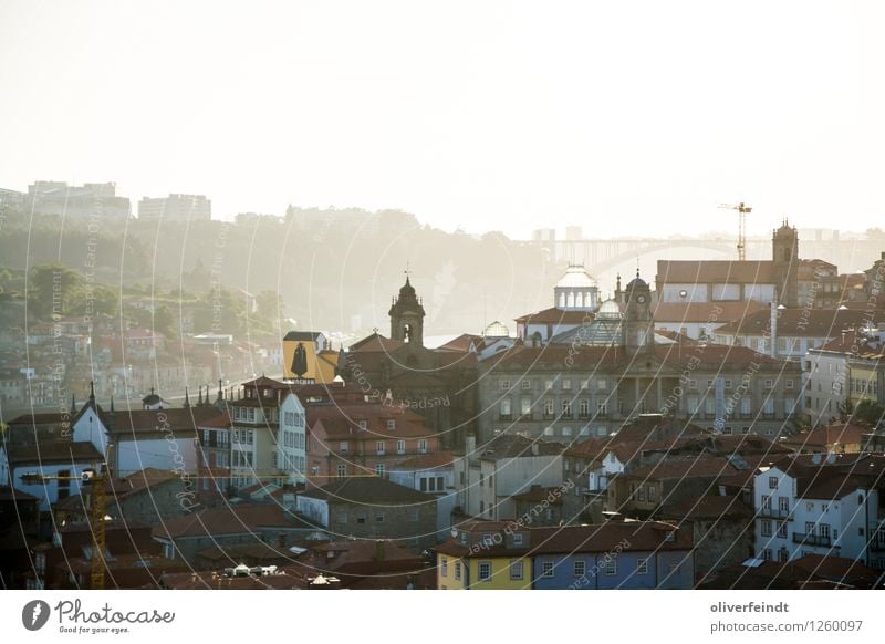
<svg viewBox="0 0 885 644">
<path fill-rule="evenodd" d="M 408 270 L 424 299 L 426 334 L 479 332 L 483 321 L 552 303 L 553 267 L 534 245 L 421 226 L 400 211 L 295 210 L 238 222 L 88 221 L 6 211 L 0 288 L 24 270 L 61 263 L 96 284 L 205 294 L 222 287 L 275 291 L 301 328 L 386 333 L 387 309 Z M 148 288 L 144 288 L 148 287 Z"/>
</svg>

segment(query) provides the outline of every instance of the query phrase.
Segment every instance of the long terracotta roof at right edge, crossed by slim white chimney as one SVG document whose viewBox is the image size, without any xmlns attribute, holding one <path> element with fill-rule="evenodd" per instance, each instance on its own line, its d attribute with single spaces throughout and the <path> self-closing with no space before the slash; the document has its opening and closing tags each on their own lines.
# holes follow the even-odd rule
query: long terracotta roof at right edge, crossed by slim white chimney
<svg viewBox="0 0 885 644">
<path fill-rule="evenodd" d="M 848 309 L 779 309 L 778 335 L 791 337 L 835 337 L 848 328 L 863 326 L 867 311 Z M 874 316 L 873 323 L 885 322 L 885 314 Z M 771 313 L 760 311 L 742 320 L 729 322 L 716 330 L 731 335 L 762 335 L 770 331 Z"/>
</svg>

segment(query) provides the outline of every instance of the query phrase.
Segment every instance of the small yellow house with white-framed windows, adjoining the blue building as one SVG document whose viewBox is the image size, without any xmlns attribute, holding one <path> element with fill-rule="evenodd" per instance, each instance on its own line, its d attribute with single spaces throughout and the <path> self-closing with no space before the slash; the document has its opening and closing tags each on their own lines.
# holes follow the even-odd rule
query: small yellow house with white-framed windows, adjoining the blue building
<svg viewBox="0 0 885 644">
<path fill-rule="evenodd" d="M 528 531 L 508 521 L 467 521 L 437 547 L 439 590 L 530 590 L 532 560 Z M 511 526 L 512 527 L 512 526 Z"/>
</svg>

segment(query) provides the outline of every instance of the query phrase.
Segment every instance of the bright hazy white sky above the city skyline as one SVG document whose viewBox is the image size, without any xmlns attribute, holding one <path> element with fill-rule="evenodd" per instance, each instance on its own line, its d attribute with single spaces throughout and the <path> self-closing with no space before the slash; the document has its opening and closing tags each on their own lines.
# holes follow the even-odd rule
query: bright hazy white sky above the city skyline
<svg viewBox="0 0 885 644">
<path fill-rule="evenodd" d="M 0 187 L 527 237 L 885 226 L 885 3 L 0 2 Z M 722 218 L 727 219 L 722 219 Z"/>
</svg>

